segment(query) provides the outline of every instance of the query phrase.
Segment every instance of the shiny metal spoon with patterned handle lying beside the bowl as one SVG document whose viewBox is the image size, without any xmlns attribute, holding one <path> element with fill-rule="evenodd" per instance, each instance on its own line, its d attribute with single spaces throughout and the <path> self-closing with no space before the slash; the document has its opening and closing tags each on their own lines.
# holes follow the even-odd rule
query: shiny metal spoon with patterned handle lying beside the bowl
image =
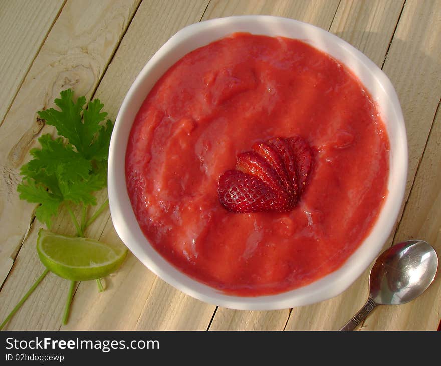
<svg viewBox="0 0 441 366">
<path fill-rule="evenodd" d="M 340 330 L 354 330 L 377 305 L 400 305 L 421 295 L 433 282 L 438 256 L 423 240 L 408 240 L 384 251 L 369 276 L 369 298 Z"/>
</svg>

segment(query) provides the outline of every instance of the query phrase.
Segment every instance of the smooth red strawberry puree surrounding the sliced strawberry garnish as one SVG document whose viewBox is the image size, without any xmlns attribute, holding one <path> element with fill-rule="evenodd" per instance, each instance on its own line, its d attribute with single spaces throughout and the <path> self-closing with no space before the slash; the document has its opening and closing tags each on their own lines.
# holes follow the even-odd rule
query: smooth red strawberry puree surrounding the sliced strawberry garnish
<svg viewBox="0 0 441 366">
<path fill-rule="evenodd" d="M 300 136 L 314 166 L 289 212 L 230 212 L 218 179 L 254 143 Z M 339 268 L 387 195 L 389 142 L 342 64 L 287 38 L 244 33 L 199 48 L 161 77 L 126 154 L 139 225 L 171 264 L 228 294 L 276 294 Z"/>
</svg>

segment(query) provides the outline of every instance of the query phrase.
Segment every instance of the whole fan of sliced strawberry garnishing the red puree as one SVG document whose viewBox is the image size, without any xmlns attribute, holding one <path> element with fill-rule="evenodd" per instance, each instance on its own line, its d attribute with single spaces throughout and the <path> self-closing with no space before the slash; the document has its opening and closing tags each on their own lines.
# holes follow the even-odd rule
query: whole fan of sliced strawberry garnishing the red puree
<svg viewBox="0 0 441 366">
<path fill-rule="evenodd" d="M 311 147 L 296 136 L 258 142 L 252 150 L 238 155 L 236 170 L 220 176 L 220 203 L 233 212 L 291 211 L 311 175 Z"/>
</svg>

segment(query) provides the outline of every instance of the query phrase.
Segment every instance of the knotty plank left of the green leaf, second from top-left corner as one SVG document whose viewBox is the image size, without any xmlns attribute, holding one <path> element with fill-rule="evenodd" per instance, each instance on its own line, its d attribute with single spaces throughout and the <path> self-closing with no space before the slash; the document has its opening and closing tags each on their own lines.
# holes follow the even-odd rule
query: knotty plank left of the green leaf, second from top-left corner
<svg viewBox="0 0 441 366">
<path fill-rule="evenodd" d="M 3 282 L 33 220 L 35 205 L 19 199 L 20 166 L 37 138 L 54 131 L 37 111 L 53 106 L 69 87 L 90 96 L 128 25 L 138 0 L 70 1 L 33 62 L 0 126 L 0 283 Z M 14 223 L 14 225 L 11 225 Z"/>
</svg>

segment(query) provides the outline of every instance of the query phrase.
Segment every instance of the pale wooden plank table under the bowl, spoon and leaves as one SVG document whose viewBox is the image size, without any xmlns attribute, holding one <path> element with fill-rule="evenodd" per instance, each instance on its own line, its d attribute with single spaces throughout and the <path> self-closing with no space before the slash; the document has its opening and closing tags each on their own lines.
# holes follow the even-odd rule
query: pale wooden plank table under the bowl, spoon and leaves
<svg viewBox="0 0 441 366">
<path fill-rule="evenodd" d="M 441 253 L 440 0 L 2 0 L 0 1 L 0 320 L 43 272 L 35 250 L 35 205 L 19 200 L 20 166 L 43 133 L 37 118 L 61 90 L 99 98 L 112 120 L 131 83 L 169 37 L 203 20 L 269 14 L 312 23 L 372 59 L 397 90 L 407 127 L 405 203 L 385 248 L 421 238 Z M 103 201 L 106 192 L 101 192 Z M 74 234 L 67 213 L 53 229 Z M 109 211 L 87 235 L 116 243 Z M 367 298 L 368 273 L 339 296 L 279 311 L 237 311 L 195 300 L 169 286 L 133 255 L 105 280 L 77 285 L 61 326 L 69 281 L 50 273 L 6 329 L 336 330 Z M 441 279 L 400 306 L 379 307 L 361 330 L 436 330 Z"/>
</svg>

